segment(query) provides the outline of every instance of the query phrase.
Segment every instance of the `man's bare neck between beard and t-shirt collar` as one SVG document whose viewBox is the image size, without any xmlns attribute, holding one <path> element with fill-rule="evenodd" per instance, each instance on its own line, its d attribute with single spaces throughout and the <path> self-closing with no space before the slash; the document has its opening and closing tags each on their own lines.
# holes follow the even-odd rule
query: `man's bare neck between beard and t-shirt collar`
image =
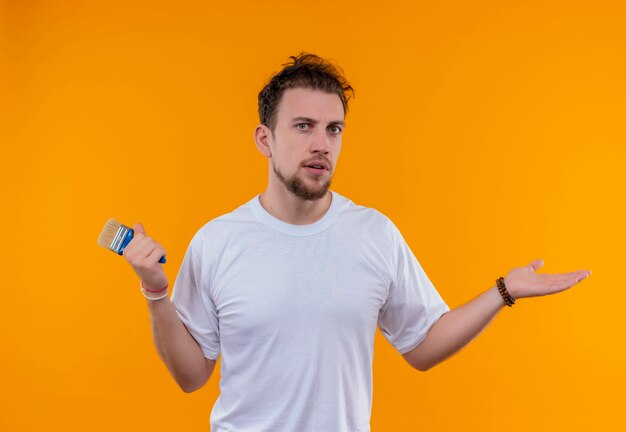
<svg viewBox="0 0 626 432">
<path fill-rule="evenodd" d="M 293 225 L 309 225 L 320 220 L 332 201 L 330 191 L 315 201 L 298 198 L 285 187 L 270 188 L 261 194 L 261 205 L 276 219 Z"/>
</svg>

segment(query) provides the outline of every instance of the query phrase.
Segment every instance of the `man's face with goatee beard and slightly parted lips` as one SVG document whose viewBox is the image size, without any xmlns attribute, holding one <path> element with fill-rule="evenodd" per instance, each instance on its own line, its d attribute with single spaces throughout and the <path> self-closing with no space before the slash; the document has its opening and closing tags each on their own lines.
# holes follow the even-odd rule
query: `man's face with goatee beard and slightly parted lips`
<svg viewBox="0 0 626 432">
<path fill-rule="evenodd" d="M 270 182 L 304 200 L 323 198 L 341 150 L 344 111 L 339 96 L 321 90 L 283 93 L 267 145 Z"/>
</svg>

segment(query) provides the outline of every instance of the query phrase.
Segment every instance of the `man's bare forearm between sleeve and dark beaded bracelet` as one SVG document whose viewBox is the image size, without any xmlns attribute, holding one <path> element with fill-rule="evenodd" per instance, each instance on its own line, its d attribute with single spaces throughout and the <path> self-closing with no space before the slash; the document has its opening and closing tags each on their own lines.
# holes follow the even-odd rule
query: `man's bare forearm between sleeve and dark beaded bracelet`
<svg viewBox="0 0 626 432">
<path fill-rule="evenodd" d="M 442 315 L 422 343 L 404 354 L 404 358 L 416 369 L 430 369 L 478 336 L 503 306 L 502 296 L 494 286 L 469 303 Z"/>
</svg>

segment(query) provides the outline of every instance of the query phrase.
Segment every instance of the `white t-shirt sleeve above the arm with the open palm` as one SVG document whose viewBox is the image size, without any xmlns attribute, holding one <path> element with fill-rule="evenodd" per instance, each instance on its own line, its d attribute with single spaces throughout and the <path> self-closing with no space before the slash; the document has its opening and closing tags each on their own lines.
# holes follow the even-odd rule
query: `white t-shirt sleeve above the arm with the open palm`
<svg viewBox="0 0 626 432">
<path fill-rule="evenodd" d="M 401 353 L 417 347 L 430 327 L 450 308 L 395 226 L 396 239 L 393 280 L 387 300 L 378 315 L 383 336 Z"/>
</svg>

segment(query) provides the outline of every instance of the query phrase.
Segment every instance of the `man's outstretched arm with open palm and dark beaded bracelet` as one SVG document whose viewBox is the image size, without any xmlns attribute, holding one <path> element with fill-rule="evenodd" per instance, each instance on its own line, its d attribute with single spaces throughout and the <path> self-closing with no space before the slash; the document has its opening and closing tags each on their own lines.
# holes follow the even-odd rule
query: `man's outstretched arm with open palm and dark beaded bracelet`
<svg viewBox="0 0 626 432">
<path fill-rule="evenodd" d="M 513 298 L 555 294 L 591 274 L 588 270 L 552 275 L 537 274 L 536 270 L 542 266 L 542 260 L 535 260 L 526 267 L 509 272 L 505 278 L 505 286 Z M 443 314 L 432 325 L 422 343 L 404 354 L 405 360 L 421 371 L 441 363 L 478 336 L 503 306 L 504 300 L 494 286 L 469 303 Z"/>
</svg>

